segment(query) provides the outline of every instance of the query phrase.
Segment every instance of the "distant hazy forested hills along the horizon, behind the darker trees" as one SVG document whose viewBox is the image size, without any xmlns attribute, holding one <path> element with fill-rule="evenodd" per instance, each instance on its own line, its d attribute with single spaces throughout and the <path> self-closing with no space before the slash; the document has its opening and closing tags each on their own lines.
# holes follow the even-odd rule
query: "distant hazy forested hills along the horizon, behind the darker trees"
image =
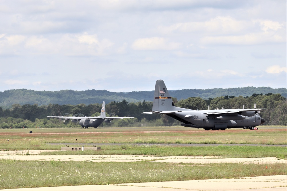
<svg viewBox="0 0 287 191">
<path fill-rule="evenodd" d="M 244 88 L 214 88 L 214 89 L 184 89 L 169 90 L 170 96 L 178 100 L 188 99 L 189 97 L 200 97 L 204 100 L 216 98 L 225 95 L 235 97 L 250 97 L 252 94 L 281 94 L 286 98 L 286 88 L 270 88 L 270 87 L 244 87 Z M 123 99 L 129 103 L 137 103 L 145 101 L 153 101 L 154 91 L 139 92 L 110 92 L 107 90 L 61 90 L 61 91 L 34 91 L 27 89 L 6 90 L 0 92 L 0 106 L 3 109 L 11 108 L 13 104 L 37 104 L 38 106 L 59 104 L 59 105 L 78 105 L 78 104 L 94 104 L 94 103 L 110 103 L 113 101 L 121 102 Z"/>
</svg>

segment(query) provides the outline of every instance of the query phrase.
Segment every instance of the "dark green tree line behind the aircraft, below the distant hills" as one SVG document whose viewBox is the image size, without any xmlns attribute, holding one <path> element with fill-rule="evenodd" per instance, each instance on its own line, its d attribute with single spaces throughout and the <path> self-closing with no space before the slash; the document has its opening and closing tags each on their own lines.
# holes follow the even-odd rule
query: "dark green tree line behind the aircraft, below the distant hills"
<svg viewBox="0 0 287 191">
<path fill-rule="evenodd" d="M 265 119 L 264 125 L 287 125 L 287 102 L 281 94 L 267 93 L 265 95 L 253 93 L 250 97 L 243 96 L 220 96 L 216 98 L 202 99 L 189 97 L 177 100 L 172 98 L 177 107 L 206 110 L 210 109 L 245 109 L 265 108 L 267 111 L 260 113 Z M 180 122 L 167 115 L 141 114 L 152 110 L 152 101 L 128 102 L 112 101 L 106 103 L 106 115 L 120 117 L 135 117 L 134 119 L 119 119 L 112 123 L 102 123 L 100 127 L 141 127 L 141 126 L 172 126 L 180 125 Z M 59 119 L 47 118 L 46 116 L 63 116 L 67 114 L 85 116 L 99 116 L 102 104 L 77 104 L 59 105 L 49 104 L 13 104 L 10 109 L 0 107 L 0 128 L 35 128 L 35 127 L 79 127 L 76 123 L 63 123 Z"/>
</svg>

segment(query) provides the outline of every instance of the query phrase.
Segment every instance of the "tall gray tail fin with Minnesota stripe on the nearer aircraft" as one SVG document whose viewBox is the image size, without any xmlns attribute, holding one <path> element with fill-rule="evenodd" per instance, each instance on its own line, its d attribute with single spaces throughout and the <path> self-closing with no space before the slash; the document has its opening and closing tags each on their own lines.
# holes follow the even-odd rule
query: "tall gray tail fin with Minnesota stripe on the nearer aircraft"
<svg viewBox="0 0 287 191">
<path fill-rule="evenodd" d="M 175 106 L 164 84 L 164 81 L 157 80 L 156 87 L 154 88 L 154 103 L 152 105 L 152 111 L 172 110 L 175 110 Z"/>
</svg>

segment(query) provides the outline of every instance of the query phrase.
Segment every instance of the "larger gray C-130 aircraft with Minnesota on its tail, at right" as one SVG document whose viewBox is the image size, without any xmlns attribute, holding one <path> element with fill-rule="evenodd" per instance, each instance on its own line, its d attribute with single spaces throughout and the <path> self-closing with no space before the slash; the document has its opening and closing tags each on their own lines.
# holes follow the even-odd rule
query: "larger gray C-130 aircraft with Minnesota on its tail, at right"
<svg viewBox="0 0 287 191">
<path fill-rule="evenodd" d="M 254 129 L 265 123 L 259 116 L 260 111 L 267 109 L 215 109 L 192 110 L 175 107 L 163 80 L 157 80 L 154 90 L 152 111 L 144 114 L 166 114 L 185 127 L 202 128 L 205 130 L 225 130 L 226 128 Z"/>
</svg>

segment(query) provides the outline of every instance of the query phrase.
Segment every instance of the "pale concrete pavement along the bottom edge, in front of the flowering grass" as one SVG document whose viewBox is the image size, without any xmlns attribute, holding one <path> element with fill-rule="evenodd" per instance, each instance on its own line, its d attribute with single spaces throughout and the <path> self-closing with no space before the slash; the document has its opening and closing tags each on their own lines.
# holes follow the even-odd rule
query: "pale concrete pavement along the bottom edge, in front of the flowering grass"
<svg viewBox="0 0 287 191">
<path fill-rule="evenodd" d="M 6 191 L 286 191 L 287 175 L 247 177 L 237 179 L 146 182 L 117 185 L 60 186 L 44 188 L 6 189 Z"/>
</svg>

